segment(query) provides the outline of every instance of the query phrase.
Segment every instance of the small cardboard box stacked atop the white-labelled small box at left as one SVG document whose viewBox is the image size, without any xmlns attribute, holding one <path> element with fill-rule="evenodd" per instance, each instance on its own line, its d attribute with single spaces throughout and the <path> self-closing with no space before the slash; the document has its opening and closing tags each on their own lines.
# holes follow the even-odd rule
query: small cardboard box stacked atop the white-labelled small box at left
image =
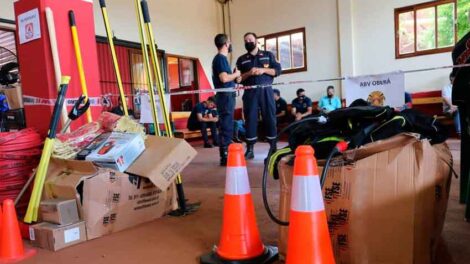
<svg viewBox="0 0 470 264">
<path fill-rule="evenodd" d="M 53 224 L 70 225 L 80 221 L 75 199 L 45 200 L 39 205 L 39 211 L 43 221 Z"/>
</svg>

